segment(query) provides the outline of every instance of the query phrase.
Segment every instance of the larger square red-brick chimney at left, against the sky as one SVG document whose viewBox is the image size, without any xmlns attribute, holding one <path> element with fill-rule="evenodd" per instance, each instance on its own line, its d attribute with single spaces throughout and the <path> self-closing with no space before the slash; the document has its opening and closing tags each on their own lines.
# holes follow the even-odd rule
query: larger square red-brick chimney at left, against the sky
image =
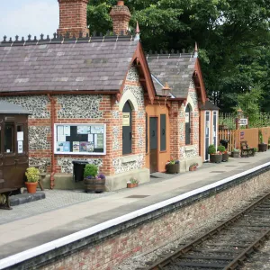
<svg viewBox="0 0 270 270">
<path fill-rule="evenodd" d="M 88 0 L 58 0 L 60 9 L 60 23 L 58 35 L 65 35 L 67 32 L 70 36 L 79 37 L 79 32 L 83 36 L 89 33 L 86 23 L 86 9 Z"/>
</svg>

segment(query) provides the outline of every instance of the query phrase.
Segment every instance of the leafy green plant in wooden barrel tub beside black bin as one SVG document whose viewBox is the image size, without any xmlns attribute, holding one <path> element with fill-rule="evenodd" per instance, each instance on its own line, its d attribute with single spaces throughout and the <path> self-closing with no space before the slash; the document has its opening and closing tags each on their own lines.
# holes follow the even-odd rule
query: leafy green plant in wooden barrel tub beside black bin
<svg viewBox="0 0 270 270">
<path fill-rule="evenodd" d="M 94 164 L 86 164 L 84 169 L 85 193 L 102 193 L 105 191 L 106 177 L 97 175 L 98 167 Z"/>
</svg>

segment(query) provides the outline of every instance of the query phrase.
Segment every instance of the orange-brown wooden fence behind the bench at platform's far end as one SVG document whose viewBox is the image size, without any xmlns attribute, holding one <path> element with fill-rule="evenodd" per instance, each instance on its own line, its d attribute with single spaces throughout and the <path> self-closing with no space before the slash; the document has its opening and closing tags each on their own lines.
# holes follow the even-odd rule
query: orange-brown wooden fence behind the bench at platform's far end
<svg viewBox="0 0 270 270">
<path fill-rule="evenodd" d="M 253 128 L 253 129 L 241 129 L 241 130 L 219 130 L 220 139 L 227 139 L 228 150 L 232 151 L 233 148 L 239 148 L 239 142 L 247 140 L 247 144 L 250 148 L 258 148 L 258 131 L 262 131 L 263 142 L 270 143 L 270 127 L 266 128 Z"/>
</svg>

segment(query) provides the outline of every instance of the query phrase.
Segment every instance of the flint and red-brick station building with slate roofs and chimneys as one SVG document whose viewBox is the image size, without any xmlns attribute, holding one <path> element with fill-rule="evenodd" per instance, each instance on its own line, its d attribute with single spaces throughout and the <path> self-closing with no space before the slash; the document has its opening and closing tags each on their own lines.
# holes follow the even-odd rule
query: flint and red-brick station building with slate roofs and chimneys
<svg viewBox="0 0 270 270">
<path fill-rule="evenodd" d="M 29 165 L 40 165 L 50 188 L 76 188 L 72 162 L 94 163 L 109 190 L 131 176 L 149 181 L 170 159 L 180 161 L 180 172 L 202 165 L 208 145 L 218 143 L 218 108 L 207 99 L 196 46 L 190 53 L 147 53 L 139 26 L 134 35 L 127 31 L 123 1 L 112 7 L 108 36 L 89 33 L 88 1 L 58 3 L 53 37 L 4 37 L 0 44 L 0 101 L 31 113 L 23 149 Z M 16 147 L 1 147 L 3 160 Z"/>
</svg>

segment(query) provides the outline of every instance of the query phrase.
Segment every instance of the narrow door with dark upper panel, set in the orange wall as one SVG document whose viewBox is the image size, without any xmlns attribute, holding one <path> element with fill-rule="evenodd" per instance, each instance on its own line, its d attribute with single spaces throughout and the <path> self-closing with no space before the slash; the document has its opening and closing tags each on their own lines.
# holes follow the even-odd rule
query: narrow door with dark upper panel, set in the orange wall
<svg viewBox="0 0 270 270">
<path fill-rule="evenodd" d="M 157 172 L 157 117 L 150 117 L 150 173 Z"/>
</svg>

